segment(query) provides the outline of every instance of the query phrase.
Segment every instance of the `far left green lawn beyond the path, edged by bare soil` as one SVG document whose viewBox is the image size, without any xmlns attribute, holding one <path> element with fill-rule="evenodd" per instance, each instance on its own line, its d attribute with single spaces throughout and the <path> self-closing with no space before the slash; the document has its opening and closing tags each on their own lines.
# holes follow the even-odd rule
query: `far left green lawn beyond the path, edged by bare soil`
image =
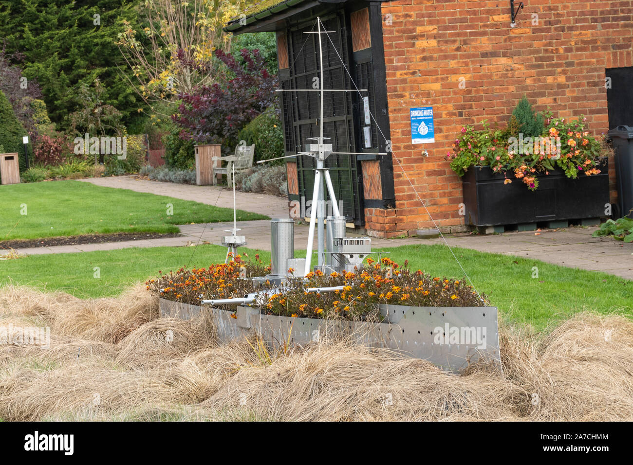
<svg viewBox="0 0 633 465">
<path fill-rule="evenodd" d="M 0 240 L 89 233 L 173 233 L 178 232 L 175 225 L 233 220 L 232 209 L 80 181 L 0 185 L 0 198 Z M 168 211 L 168 204 L 173 211 Z M 237 220 L 268 217 L 238 210 Z"/>
</svg>

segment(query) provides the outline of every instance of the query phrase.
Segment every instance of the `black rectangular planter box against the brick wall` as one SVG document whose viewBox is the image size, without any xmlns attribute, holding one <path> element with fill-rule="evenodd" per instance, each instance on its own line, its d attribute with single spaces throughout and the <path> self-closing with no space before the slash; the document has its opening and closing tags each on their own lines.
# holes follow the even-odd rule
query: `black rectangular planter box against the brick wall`
<svg viewBox="0 0 633 465">
<path fill-rule="evenodd" d="M 579 173 L 576 179 L 562 170 L 537 176 L 539 187 L 529 190 L 512 171 L 504 184 L 503 173 L 473 166 L 461 178 L 466 224 L 475 226 L 516 225 L 544 221 L 580 220 L 605 216 L 609 202 L 608 160 L 603 159 L 598 175 Z"/>
</svg>

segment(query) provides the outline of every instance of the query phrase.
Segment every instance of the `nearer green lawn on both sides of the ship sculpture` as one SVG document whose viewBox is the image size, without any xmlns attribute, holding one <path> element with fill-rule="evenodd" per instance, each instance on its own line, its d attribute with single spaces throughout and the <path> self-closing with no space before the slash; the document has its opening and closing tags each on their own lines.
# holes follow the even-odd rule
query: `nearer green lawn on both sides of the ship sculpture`
<svg viewBox="0 0 633 465">
<path fill-rule="evenodd" d="M 398 263 L 437 276 L 462 276 L 451 252 L 443 245 L 407 245 L 384 249 Z M 582 310 L 621 311 L 633 316 L 633 282 L 594 271 L 573 270 L 538 260 L 453 249 L 479 292 L 489 295 L 505 321 L 531 323 L 542 330 L 549 323 Z M 241 249 L 253 257 L 250 249 Z M 226 249 L 218 245 L 155 247 L 116 251 L 29 256 L 0 261 L 0 284 L 61 289 L 80 297 L 117 295 L 134 282 L 189 266 L 223 262 Z M 264 260 L 270 252 L 259 252 Z M 303 252 L 304 253 L 304 252 Z M 297 256 L 304 256 L 297 252 Z M 191 262 L 190 262 L 191 259 Z M 532 278 L 533 267 L 538 278 Z M 99 267 L 100 278 L 94 278 Z"/>
</svg>

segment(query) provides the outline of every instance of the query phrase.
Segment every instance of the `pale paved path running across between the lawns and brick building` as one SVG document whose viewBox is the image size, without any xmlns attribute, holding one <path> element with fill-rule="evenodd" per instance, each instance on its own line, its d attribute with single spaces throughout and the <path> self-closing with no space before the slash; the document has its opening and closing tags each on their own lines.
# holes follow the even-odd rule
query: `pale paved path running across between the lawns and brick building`
<svg viewBox="0 0 633 465">
<path fill-rule="evenodd" d="M 223 187 L 194 186 L 150 180 L 137 180 L 132 177 L 92 178 L 85 182 L 106 187 L 150 192 L 169 195 L 178 199 L 193 200 L 226 208 L 232 208 L 232 191 Z M 271 218 L 288 218 L 287 199 L 273 195 L 237 192 L 238 208 L 266 214 Z M 99 250 L 125 249 L 127 247 L 186 246 L 211 242 L 220 244 L 223 231 L 232 227 L 232 223 L 207 223 L 180 225 L 182 237 L 166 239 L 130 240 L 127 242 L 106 242 L 102 244 L 60 245 L 56 247 L 33 247 L 20 249 L 23 254 L 51 254 L 63 252 L 88 252 Z M 237 227 L 246 236 L 248 247 L 270 251 L 269 221 L 238 221 Z M 380 250 L 386 247 L 398 247 L 410 244 L 444 244 L 451 247 L 464 247 L 481 252 L 494 252 L 505 255 L 531 257 L 570 268 L 604 271 L 611 275 L 633 280 L 633 243 L 624 244 L 618 240 L 591 237 L 596 226 L 572 227 L 542 232 L 508 232 L 498 235 L 470 235 L 468 233 L 448 234 L 444 239 L 373 239 L 372 247 Z M 308 226 L 296 225 L 294 247 L 304 249 L 308 240 Z M 315 240 L 316 241 L 316 240 Z M 316 249 L 316 244 L 314 245 Z"/>
</svg>

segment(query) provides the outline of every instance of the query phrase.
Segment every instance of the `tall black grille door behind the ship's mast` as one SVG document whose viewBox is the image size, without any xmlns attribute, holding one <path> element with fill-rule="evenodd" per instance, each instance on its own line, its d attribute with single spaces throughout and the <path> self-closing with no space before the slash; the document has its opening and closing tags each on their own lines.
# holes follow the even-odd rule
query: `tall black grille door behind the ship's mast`
<svg viewBox="0 0 633 465">
<path fill-rule="evenodd" d="M 348 73 L 339 55 L 349 69 L 349 49 L 344 13 L 323 20 L 332 42 L 322 35 L 323 45 L 323 87 L 325 89 L 352 89 Z M 291 57 L 289 78 L 282 82 L 284 89 L 318 88 L 319 50 L 318 36 L 304 34 L 313 30 L 308 27 L 287 32 L 289 56 Z M 315 80 L 316 78 L 316 80 Z M 353 120 L 353 93 L 326 92 L 323 102 L 323 136 L 329 137 L 335 152 L 355 152 Z M 284 111 L 285 151 L 292 154 L 305 150 L 309 137 L 318 137 L 318 115 L 320 111 L 319 92 L 282 92 Z M 311 199 L 314 186 L 315 160 L 308 156 L 298 158 L 299 195 Z M 337 200 L 342 201 L 341 214 L 356 225 L 364 222 L 361 205 L 362 185 L 358 175 L 358 162 L 354 155 L 330 155 L 326 161 Z M 327 192 L 326 192 L 327 195 Z M 327 197 L 326 197 L 327 198 Z"/>
</svg>

